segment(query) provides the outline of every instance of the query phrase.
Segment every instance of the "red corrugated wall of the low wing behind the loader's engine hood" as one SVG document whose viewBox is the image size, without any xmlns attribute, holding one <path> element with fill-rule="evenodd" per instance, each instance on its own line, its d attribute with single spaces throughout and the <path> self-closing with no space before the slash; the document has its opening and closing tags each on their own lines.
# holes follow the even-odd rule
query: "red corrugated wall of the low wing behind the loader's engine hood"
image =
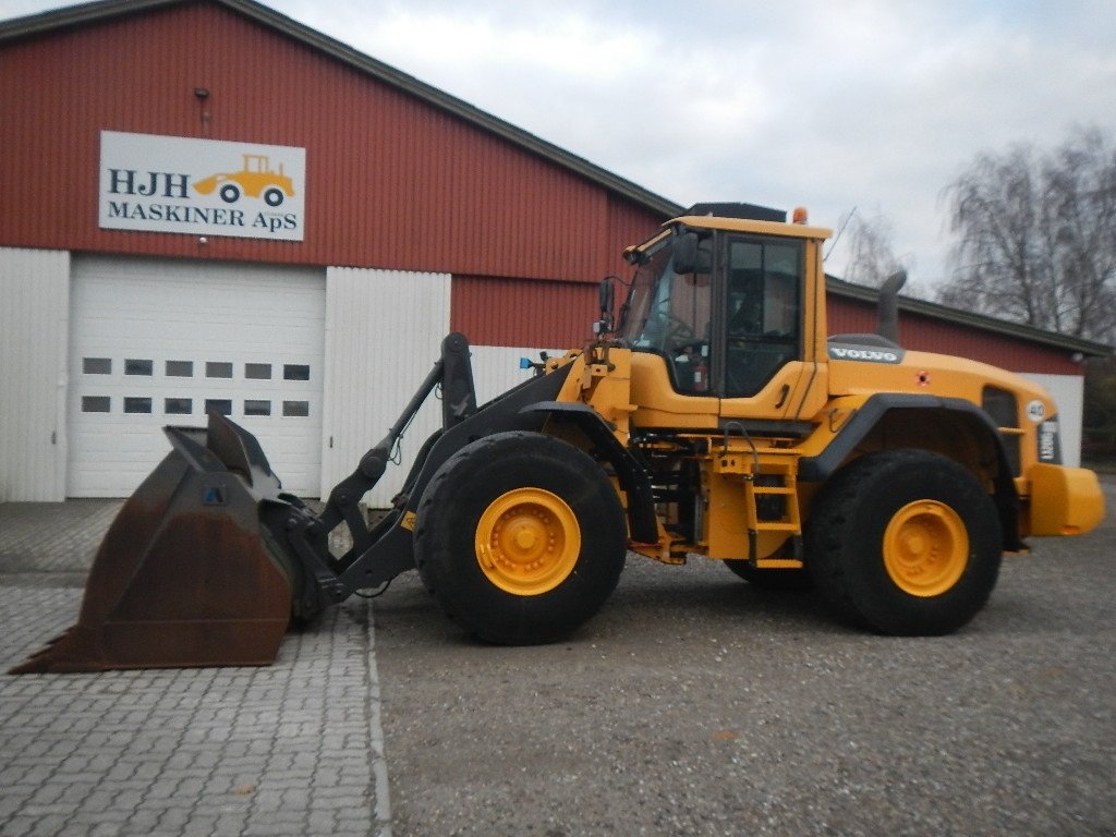
<svg viewBox="0 0 1116 837">
<path fill-rule="evenodd" d="M 829 334 L 876 330 L 874 305 L 829 295 L 827 308 Z M 899 340 L 910 349 L 969 357 L 1012 372 L 1081 374 L 1081 367 L 1070 359 L 1069 352 L 908 311 L 899 312 Z"/>
</svg>

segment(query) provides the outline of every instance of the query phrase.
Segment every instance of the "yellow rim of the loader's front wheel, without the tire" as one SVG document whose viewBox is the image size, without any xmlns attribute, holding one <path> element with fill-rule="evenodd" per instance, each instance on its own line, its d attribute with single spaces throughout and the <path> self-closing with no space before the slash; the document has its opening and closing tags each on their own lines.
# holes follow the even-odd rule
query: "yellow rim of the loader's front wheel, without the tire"
<svg viewBox="0 0 1116 837">
<path fill-rule="evenodd" d="M 501 590 L 538 596 L 574 571 L 581 529 L 557 494 L 522 488 L 498 497 L 477 525 L 477 561 Z"/>
</svg>

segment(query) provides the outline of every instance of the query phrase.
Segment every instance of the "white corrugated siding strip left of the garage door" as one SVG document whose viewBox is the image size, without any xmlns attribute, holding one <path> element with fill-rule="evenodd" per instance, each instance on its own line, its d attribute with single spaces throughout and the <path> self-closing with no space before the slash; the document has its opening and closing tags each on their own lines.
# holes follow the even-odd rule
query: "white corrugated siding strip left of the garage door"
<svg viewBox="0 0 1116 837">
<path fill-rule="evenodd" d="M 69 254 L 0 249 L 0 501 L 66 494 Z"/>
</svg>

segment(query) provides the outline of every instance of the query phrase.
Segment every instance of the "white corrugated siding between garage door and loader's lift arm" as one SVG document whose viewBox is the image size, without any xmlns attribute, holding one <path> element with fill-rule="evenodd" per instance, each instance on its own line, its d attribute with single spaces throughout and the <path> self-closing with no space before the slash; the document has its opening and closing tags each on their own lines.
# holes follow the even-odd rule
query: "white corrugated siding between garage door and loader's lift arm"
<svg viewBox="0 0 1116 837">
<path fill-rule="evenodd" d="M 441 356 L 449 327 L 445 273 L 326 271 L 323 497 L 395 423 Z M 423 441 L 441 424 L 441 405 L 432 398 L 406 433 L 401 464 L 389 465 L 366 498 L 372 507 L 391 504 Z"/>
</svg>

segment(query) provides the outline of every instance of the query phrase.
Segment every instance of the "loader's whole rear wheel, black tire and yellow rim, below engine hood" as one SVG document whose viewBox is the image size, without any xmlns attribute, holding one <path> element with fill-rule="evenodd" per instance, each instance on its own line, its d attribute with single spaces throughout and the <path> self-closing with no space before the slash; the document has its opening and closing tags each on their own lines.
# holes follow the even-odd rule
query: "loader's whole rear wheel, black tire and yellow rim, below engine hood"
<svg viewBox="0 0 1116 837">
<path fill-rule="evenodd" d="M 814 501 L 807 568 L 846 620 L 883 634 L 941 635 L 988 602 L 1000 570 L 997 508 L 937 453 L 869 453 Z"/>
</svg>

